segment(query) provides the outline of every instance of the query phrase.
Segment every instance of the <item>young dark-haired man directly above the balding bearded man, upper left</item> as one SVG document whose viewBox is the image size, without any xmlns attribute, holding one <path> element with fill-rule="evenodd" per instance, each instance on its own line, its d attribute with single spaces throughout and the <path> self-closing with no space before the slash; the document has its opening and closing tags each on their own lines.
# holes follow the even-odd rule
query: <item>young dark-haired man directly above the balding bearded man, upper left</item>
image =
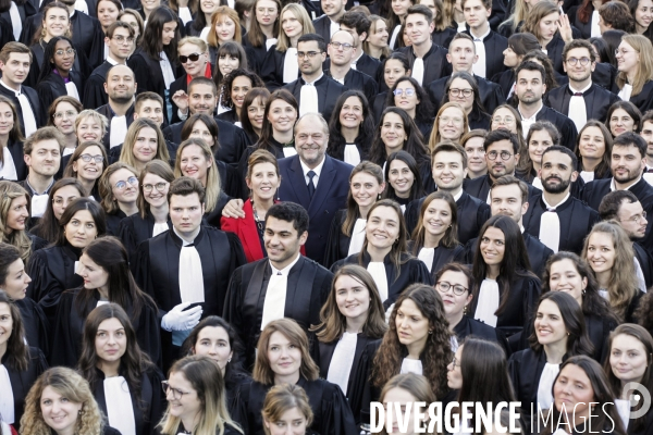
<svg viewBox="0 0 653 435">
<path fill-rule="evenodd" d="M 109 54 L 107 60 L 86 79 L 84 101 L 82 101 L 84 109 L 95 110 L 109 102 L 109 97 L 104 91 L 107 73 L 112 66 L 127 64 L 127 58 L 134 46 L 134 27 L 127 23 L 118 21 L 109 26 L 104 38 L 104 45 L 109 47 Z"/>
</svg>

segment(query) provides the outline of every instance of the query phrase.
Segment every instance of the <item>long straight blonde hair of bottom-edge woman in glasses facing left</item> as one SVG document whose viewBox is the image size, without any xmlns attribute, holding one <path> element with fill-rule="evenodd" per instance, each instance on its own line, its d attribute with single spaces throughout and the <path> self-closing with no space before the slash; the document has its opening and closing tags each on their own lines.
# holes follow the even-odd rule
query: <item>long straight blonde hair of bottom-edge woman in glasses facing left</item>
<svg viewBox="0 0 653 435">
<path fill-rule="evenodd" d="M 217 361 L 199 355 L 185 357 L 172 365 L 170 373 L 182 373 L 193 385 L 193 389 L 197 393 L 204 407 L 197 426 L 186 427 L 193 432 L 193 435 L 215 435 L 215 433 L 222 435 L 226 424 L 243 433 L 226 410 L 224 378 Z M 161 428 L 163 435 L 176 435 L 181 422 L 178 417 L 170 414 L 169 406 L 158 427 Z"/>
</svg>

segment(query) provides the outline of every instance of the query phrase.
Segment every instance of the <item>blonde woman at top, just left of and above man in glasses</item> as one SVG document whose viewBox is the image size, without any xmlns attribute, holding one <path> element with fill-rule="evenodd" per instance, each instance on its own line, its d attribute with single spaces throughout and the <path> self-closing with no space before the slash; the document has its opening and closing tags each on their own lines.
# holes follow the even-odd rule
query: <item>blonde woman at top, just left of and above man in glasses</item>
<svg viewBox="0 0 653 435">
<path fill-rule="evenodd" d="M 260 76 L 270 91 L 299 77 L 297 40 L 301 35 L 316 32 L 306 9 L 295 3 L 283 8 L 280 23 L 279 40 L 268 50 L 260 71 Z"/>
</svg>

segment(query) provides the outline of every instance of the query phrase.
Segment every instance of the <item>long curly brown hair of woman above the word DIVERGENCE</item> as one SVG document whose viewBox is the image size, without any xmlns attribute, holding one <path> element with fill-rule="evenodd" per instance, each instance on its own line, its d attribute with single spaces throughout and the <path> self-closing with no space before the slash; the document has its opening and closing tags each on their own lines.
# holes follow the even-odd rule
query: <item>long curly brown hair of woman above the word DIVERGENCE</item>
<svg viewBox="0 0 653 435">
<path fill-rule="evenodd" d="M 407 299 L 410 299 L 429 320 L 429 336 L 420 360 L 431 389 L 436 398 L 442 399 L 448 391 L 446 366 L 453 358 L 452 333 L 448 330 L 442 298 L 433 287 L 424 284 L 412 284 L 397 299 L 390 314 L 387 333 L 374 356 L 370 380 L 372 385 L 381 388 L 393 376 L 399 374 L 402 360 L 408 355 L 408 349 L 399 341 L 396 318 L 398 309 Z"/>
</svg>

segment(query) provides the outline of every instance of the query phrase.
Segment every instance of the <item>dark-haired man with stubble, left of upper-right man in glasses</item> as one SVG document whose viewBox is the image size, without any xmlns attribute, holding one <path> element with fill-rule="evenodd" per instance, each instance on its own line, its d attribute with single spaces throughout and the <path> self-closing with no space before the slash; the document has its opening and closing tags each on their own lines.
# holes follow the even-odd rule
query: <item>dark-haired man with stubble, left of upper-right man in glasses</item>
<svg viewBox="0 0 653 435">
<path fill-rule="evenodd" d="M 542 102 L 542 96 L 546 92 L 544 66 L 532 61 L 522 62 L 517 66 L 516 76 L 515 95 L 519 99 L 517 110 L 521 114 L 523 137 L 526 138 L 530 126 L 537 121 L 549 121 L 560 133 L 562 145 L 575 150 L 578 132 L 574 122 Z"/>
</svg>

